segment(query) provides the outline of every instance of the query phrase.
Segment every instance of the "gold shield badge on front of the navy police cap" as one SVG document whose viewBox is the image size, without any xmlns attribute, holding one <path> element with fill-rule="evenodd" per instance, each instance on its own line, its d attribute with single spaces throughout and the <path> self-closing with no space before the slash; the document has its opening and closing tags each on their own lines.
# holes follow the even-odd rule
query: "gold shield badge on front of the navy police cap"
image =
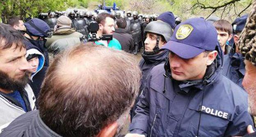
<svg viewBox="0 0 256 137">
<path fill-rule="evenodd" d="M 189 24 L 183 24 L 178 28 L 178 31 L 176 32 L 176 38 L 178 40 L 183 40 L 187 38 L 190 33 L 193 31 L 193 27 Z"/>
</svg>

